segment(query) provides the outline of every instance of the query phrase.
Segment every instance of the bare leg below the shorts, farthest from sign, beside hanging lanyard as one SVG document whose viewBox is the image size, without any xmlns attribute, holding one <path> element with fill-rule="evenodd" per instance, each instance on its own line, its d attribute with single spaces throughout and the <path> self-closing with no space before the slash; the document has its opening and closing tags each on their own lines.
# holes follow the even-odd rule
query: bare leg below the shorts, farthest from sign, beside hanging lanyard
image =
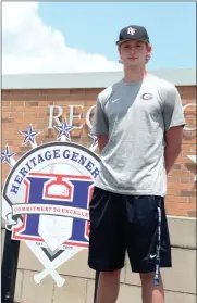
<svg viewBox="0 0 197 303">
<path fill-rule="evenodd" d="M 140 274 L 143 303 L 164 303 L 162 278 L 160 286 L 153 285 L 155 273 Z"/>
</svg>

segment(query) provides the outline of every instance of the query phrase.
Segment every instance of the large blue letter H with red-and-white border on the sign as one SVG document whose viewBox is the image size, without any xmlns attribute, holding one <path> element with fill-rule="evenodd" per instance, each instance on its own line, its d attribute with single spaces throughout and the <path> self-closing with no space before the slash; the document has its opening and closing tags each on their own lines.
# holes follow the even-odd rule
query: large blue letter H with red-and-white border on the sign
<svg viewBox="0 0 197 303">
<path fill-rule="evenodd" d="M 90 177 L 32 173 L 26 178 L 25 186 L 25 203 L 29 206 L 46 205 L 46 209 L 54 210 L 54 215 L 24 214 L 22 226 L 13 229 L 13 239 L 36 242 L 45 240 L 53 250 L 63 243 L 88 247 L 89 220 L 69 217 L 58 213 L 58 210 L 59 206 L 69 206 L 76 212 L 87 211 L 94 190 Z"/>
</svg>

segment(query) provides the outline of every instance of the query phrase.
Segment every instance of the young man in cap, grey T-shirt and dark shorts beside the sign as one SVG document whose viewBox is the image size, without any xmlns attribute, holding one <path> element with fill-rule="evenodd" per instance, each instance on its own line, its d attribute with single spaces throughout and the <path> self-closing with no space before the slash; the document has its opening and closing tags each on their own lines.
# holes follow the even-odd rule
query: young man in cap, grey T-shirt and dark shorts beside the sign
<svg viewBox="0 0 197 303">
<path fill-rule="evenodd" d="M 97 303 L 116 302 L 125 252 L 140 275 L 143 303 L 163 303 L 160 267 L 172 266 L 164 197 L 181 152 L 182 102 L 174 85 L 146 71 L 145 27 L 123 28 L 116 43 L 124 78 L 98 96 L 94 117 L 101 163 L 89 206 L 88 265 L 100 272 Z"/>
</svg>

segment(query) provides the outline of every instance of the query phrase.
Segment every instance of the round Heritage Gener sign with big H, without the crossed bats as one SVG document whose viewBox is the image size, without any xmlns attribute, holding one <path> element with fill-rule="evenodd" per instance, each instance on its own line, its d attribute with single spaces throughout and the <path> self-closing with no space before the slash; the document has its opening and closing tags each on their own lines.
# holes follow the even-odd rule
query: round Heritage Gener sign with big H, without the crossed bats
<svg viewBox="0 0 197 303">
<path fill-rule="evenodd" d="M 89 201 L 99 157 L 85 147 L 51 142 L 23 156 L 10 173 L 3 197 L 12 209 L 13 239 L 45 243 L 51 251 L 88 247 Z"/>
</svg>

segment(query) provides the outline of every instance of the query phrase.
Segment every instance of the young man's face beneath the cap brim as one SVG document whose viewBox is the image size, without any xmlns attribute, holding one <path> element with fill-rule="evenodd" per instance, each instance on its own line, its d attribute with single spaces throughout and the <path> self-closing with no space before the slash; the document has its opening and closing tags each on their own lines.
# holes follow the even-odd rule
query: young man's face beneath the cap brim
<svg viewBox="0 0 197 303">
<path fill-rule="evenodd" d="M 145 65 L 150 55 L 151 47 L 143 41 L 130 40 L 119 46 L 119 53 L 124 65 Z"/>
</svg>

